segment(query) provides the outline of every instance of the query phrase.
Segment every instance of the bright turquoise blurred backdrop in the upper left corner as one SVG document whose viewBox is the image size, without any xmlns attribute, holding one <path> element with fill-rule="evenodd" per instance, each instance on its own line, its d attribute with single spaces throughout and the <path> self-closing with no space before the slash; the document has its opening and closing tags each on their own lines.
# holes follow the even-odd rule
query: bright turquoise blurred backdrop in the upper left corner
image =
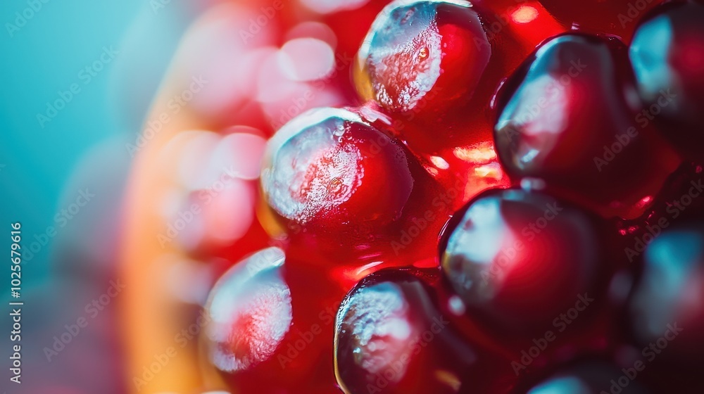
<svg viewBox="0 0 704 394">
<path fill-rule="evenodd" d="M 25 239 L 54 224 L 65 184 L 89 148 L 134 138 L 193 11 L 184 1 L 163 8 L 137 0 L 37 3 L 42 8 L 13 37 L 6 24 L 29 5 L 0 4 L 0 229 L 20 221 Z M 78 73 L 105 46 L 120 53 L 84 84 Z M 80 93 L 42 128 L 37 114 L 73 83 Z M 50 243 L 32 259 L 25 284 L 49 278 L 51 250 Z"/>
</svg>

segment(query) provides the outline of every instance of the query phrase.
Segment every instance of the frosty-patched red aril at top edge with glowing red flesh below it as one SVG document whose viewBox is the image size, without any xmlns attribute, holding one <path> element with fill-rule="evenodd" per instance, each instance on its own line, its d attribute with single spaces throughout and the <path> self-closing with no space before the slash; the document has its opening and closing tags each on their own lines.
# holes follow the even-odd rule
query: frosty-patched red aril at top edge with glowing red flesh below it
<svg viewBox="0 0 704 394">
<path fill-rule="evenodd" d="M 476 160 L 466 153 L 494 153 L 491 98 L 534 45 L 549 37 L 546 32 L 525 44 L 489 8 L 468 5 L 389 4 L 372 25 L 355 69 L 360 95 L 391 117 L 389 133 L 446 189 L 459 192 L 453 209 L 487 187 L 508 186 L 495 156 Z"/>
</svg>

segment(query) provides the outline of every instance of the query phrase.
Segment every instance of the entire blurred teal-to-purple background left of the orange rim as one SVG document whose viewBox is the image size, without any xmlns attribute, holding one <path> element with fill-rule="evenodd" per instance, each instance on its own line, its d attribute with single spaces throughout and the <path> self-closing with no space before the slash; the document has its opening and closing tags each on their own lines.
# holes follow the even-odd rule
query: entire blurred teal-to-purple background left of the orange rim
<svg viewBox="0 0 704 394">
<path fill-rule="evenodd" d="M 32 0 L 30 0 L 32 1 Z M 44 349 L 115 277 L 120 208 L 130 176 L 125 142 L 141 132 L 144 117 L 177 45 L 198 8 L 194 1 L 49 0 L 13 34 L 8 23 L 27 12 L 27 0 L 0 3 L 0 393 L 120 394 L 121 349 L 116 308 L 91 319 L 66 350 L 47 360 Z M 104 47 L 118 55 L 89 83 L 80 70 Z M 39 125 L 46 103 L 71 84 L 80 93 Z M 65 227 L 57 212 L 80 191 L 96 196 Z M 54 226 L 22 265 L 22 385 L 8 383 L 12 321 L 11 223 L 21 222 L 23 251 Z M 96 255 L 97 250 L 97 255 Z M 61 391 L 69 390 L 69 391 Z M 56 391 L 54 391 L 56 390 Z"/>
</svg>

